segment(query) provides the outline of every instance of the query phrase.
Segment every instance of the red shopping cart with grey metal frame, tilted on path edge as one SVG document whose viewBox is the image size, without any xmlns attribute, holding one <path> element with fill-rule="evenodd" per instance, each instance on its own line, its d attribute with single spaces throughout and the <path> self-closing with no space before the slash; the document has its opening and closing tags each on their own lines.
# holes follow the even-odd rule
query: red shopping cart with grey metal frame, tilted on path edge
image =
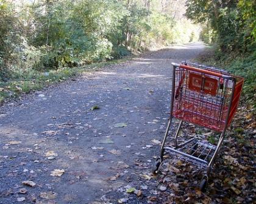
<svg viewBox="0 0 256 204">
<path fill-rule="evenodd" d="M 157 174 L 167 152 L 179 160 L 196 165 L 204 172 L 200 189 L 205 191 L 213 162 L 238 107 L 244 79 L 224 70 L 196 63 L 172 63 L 172 66 L 171 112 L 160 157 L 155 161 L 152 172 Z M 179 119 L 180 123 L 174 134 L 174 146 L 170 147 L 165 143 L 171 132 L 173 117 Z M 218 144 L 215 146 L 197 137 L 178 143 L 183 122 L 221 132 Z"/>
</svg>

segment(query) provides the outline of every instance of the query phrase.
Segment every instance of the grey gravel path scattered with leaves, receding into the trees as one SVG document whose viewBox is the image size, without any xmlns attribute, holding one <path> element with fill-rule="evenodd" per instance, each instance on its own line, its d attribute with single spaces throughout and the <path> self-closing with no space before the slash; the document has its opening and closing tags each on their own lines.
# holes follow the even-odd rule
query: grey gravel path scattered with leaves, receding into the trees
<svg viewBox="0 0 256 204">
<path fill-rule="evenodd" d="M 161 191 L 151 162 L 171 62 L 204 47 L 149 52 L 0 107 L 0 203 L 148 203 Z"/>
</svg>

